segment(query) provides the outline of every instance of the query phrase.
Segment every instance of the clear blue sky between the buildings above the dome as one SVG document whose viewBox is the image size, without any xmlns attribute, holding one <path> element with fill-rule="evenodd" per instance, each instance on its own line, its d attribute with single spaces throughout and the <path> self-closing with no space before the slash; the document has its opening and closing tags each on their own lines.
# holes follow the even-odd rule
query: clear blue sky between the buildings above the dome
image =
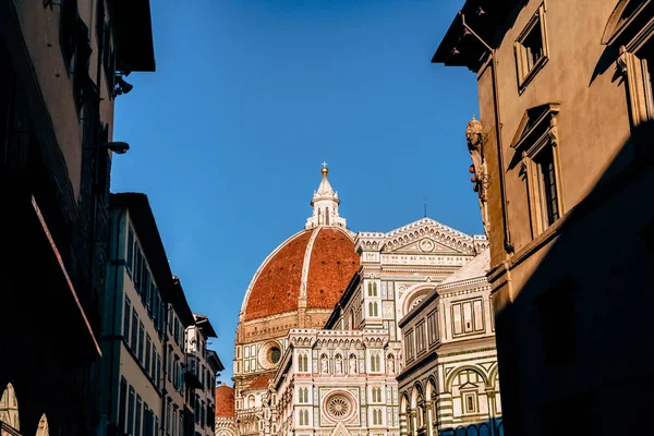
<svg viewBox="0 0 654 436">
<path fill-rule="evenodd" d="M 476 80 L 431 63 L 463 0 L 152 1 L 157 72 L 117 99 L 112 192 L 148 195 L 231 384 L 241 302 L 301 230 L 320 162 L 353 231 L 428 216 L 482 233 L 465 124 Z"/>
</svg>

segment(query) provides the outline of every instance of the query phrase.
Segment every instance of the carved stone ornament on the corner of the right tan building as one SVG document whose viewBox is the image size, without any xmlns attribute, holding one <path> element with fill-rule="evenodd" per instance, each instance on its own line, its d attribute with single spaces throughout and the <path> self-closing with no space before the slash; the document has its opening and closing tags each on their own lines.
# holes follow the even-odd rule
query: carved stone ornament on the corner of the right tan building
<svg viewBox="0 0 654 436">
<path fill-rule="evenodd" d="M 480 211 L 482 214 L 482 222 L 484 225 L 484 232 L 488 237 L 491 230 L 491 222 L 488 220 L 488 185 L 489 177 L 486 168 L 486 160 L 484 158 L 484 133 L 482 122 L 472 116 L 472 120 L 468 123 L 465 129 L 465 138 L 468 140 L 468 150 L 470 152 L 470 158 L 472 159 L 472 166 L 470 172 L 473 173 L 471 181 L 474 183 L 474 191 L 480 197 Z"/>
</svg>

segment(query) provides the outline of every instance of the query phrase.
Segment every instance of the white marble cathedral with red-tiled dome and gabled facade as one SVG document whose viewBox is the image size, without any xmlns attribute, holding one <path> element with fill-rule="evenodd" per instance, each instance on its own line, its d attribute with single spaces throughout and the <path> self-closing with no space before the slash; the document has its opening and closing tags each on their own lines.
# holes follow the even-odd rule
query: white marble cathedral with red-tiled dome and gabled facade
<svg viewBox="0 0 654 436">
<path fill-rule="evenodd" d="M 398 435 L 396 377 L 404 364 L 399 319 L 486 246 L 485 237 L 470 237 L 429 218 L 390 232 L 354 234 L 338 214 L 340 201 L 327 173 L 324 168 L 307 230 L 264 263 L 243 304 L 247 312 L 256 307 L 253 299 L 265 301 L 257 291 L 262 276 L 271 280 L 277 271 L 296 271 L 298 314 L 306 304 L 305 313 L 319 310 L 320 316 L 311 323 L 305 318 L 304 327 L 296 322 L 275 330 L 270 322 L 282 316 L 239 327 L 241 335 L 246 326 L 252 332 L 266 335 L 272 328 L 274 335 L 284 336 L 277 347 L 257 338 L 264 342 L 258 348 L 237 338 L 238 434 Z M 306 244 L 298 241 L 302 235 Z M 287 289 L 286 282 L 269 286 L 266 296 L 275 304 L 291 295 Z M 320 298 L 329 301 L 316 307 Z M 243 312 L 241 316 L 246 319 Z M 267 371 L 258 370 L 257 359 L 268 364 Z M 255 374 L 243 384 L 247 372 Z"/>
</svg>

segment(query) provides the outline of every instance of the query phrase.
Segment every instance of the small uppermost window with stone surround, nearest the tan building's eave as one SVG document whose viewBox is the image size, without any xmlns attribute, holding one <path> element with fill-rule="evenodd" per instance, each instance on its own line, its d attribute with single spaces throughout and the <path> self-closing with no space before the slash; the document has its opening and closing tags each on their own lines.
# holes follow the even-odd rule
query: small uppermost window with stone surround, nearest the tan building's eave
<svg viewBox="0 0 654 436">
<path fill-rule="evenodd" d="M 547 62 L 547 59 L 545 7 L 541 5 L 516 40 L 516 65 L 520 92 L 526 87 L 536 72 Z"/>
</svg>

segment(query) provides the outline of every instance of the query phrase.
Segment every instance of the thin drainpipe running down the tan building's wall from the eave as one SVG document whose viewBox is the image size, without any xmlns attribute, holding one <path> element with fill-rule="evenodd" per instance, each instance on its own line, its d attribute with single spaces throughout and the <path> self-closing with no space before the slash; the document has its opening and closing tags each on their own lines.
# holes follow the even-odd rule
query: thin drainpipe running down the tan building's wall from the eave
<svg viewBox="0 0 654 436">
<path fill-rule="evenodd" d="M 505 252 L 507 254 L 513 254 L 513 252 L 516 251 L 516 249 L 513 247 L 513 244 L 511 243 L 511 233 L 509 232 L 509 217 L 507 214 L 507 208 L 508 208 L 508 204 L 507 204 L 507 193 L 506 193 L 506 186 L 505 186 L 505 179 L 504 179 L 504 155 L 502 155 L 502 150 L 501 150 L 501 118 L 500 118 L 500 111 L 499 111 L 499 89 L 497 87 L 497 60 L 495 58 L 495 53 L 496 50 L 494 48 L 492 48 L 488 44 L 486 44 L 486 41 L 484 41 L 484 39 L 482 39 L 481 36 L 479 36 L 472 28 L 470 28 L 470 26 L 465 23 L 465 14 L 463 14 L 463 12 L 459 12 L 461 14 L 461 23 L 463 25 L 463 28 L 465 29 L 465 32 L 470 33 L 472 36 L 474 36 L 485 48 L 486 50 L 488 50 L 489 55 L 491 55 L 491 66 L 492 66 L 492 83 L 493 83 L 493 109 L 495 112 L 495 135 L 496 135 L 496 142 L 497 142 L 497 158 L 498 158 L 498 164 L 499 164 L 499 189 L 500 189 L 500 195 L 501 195 L 501 218 L 504 221 L 504 249 Z"/>
</svg>

